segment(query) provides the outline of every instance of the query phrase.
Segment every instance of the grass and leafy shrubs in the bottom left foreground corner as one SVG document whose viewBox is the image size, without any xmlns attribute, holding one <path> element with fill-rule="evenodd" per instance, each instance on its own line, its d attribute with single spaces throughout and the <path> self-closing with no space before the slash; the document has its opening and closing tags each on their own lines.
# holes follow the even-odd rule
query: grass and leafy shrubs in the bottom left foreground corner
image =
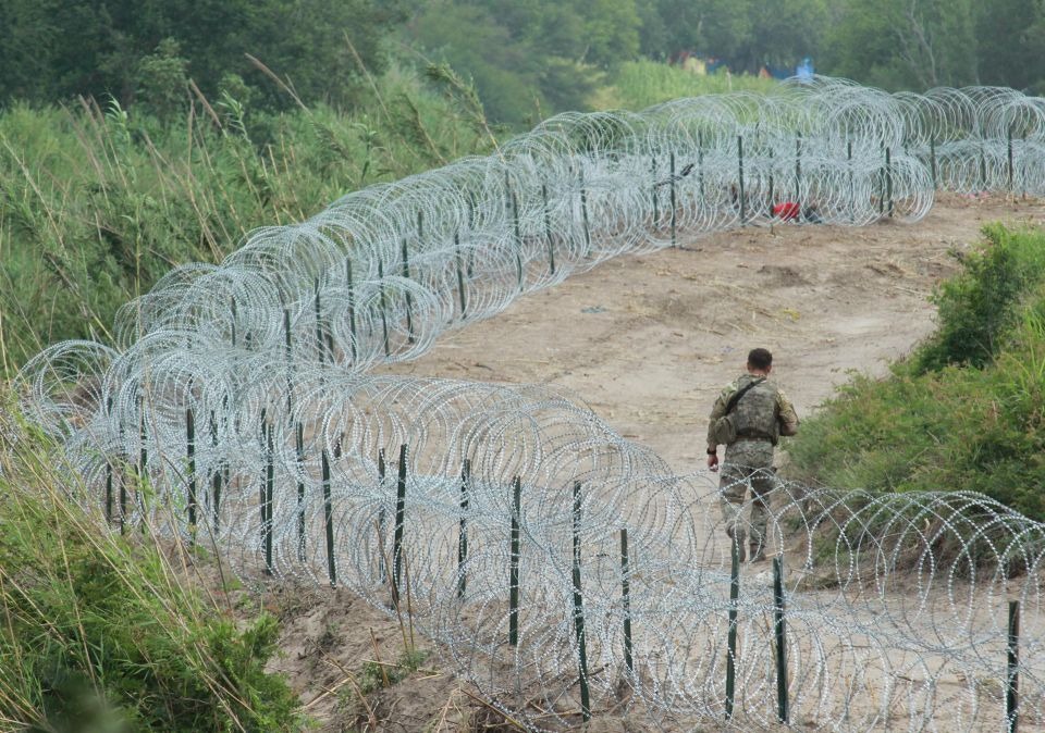
<svg viewBox="0 0 1045 733">
<path fill-rule="evenodd" d="M 237 621 L 188 582 L 195 558 L 147 533 L 100 533 L 57 448 L 2 399 L 0 729 L 304 730 L 297 698 L 265 673 L 275 621 Z"/>
</svg>

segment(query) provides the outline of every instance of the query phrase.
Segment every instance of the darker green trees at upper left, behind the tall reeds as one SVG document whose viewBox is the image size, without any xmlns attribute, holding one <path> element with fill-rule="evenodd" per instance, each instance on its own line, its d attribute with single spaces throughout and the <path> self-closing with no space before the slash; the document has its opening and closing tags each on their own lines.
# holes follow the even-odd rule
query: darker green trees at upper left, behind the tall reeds
<svg viewBox="0 0 1045 733">
<path fill-rule="evenodd" d="M 292 104 L 251 54 L 303 99 L 348 104 L 403 17 L 380 0 L 4 0 L 0 102 L 112 96 L 163 112 L 185 75 L 208 97 L 245 86 L 269 108 Z"/>
</svg>

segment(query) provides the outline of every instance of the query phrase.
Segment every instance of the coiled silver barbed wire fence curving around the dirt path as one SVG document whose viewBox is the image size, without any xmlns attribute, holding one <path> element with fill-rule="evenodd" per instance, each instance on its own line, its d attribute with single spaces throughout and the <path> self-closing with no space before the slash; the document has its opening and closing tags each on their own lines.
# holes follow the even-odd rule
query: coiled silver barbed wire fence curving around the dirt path
<svg viewBox="0 0 1045 733">
<path fill-rule="evenodd" d="M 173 270 L 120 311 L 115 347 L 30 361 L 23 410 L 114 524 L 205 536 L 247 575 L 343 584 L 381 607 L 406 594 L 418 626 L 534 729 L 580 707 L 575 546 L 597 707 L 721 719 L 733 608 L 732 724 L 769 724 L 775 601 L 746 577 L 730 602 L 708 475 L 673 475 L 562 392 L 368 372 L 522 293 L 764 222 L 779 201 L 859 226 L 917 221 L 937 188 L 1041 194 L 1043 120 L 1040 98 L 1012 90 L 834 79 L 558 115 L 496 156 L 371 186 L 255 232 L 220 265 Z M 979 496 L 783 482 L 776 495 L 795 715 L 835 730 L 932 730 L 943 711 L 957 730 L 1000 725 L 1000 614 L 1010 596 L 1041 610 L 1042 526 Z M 1020 667 L 1022 715 L 1038 722 L 1040 644 L 1032 633 Z"/>
</svg>

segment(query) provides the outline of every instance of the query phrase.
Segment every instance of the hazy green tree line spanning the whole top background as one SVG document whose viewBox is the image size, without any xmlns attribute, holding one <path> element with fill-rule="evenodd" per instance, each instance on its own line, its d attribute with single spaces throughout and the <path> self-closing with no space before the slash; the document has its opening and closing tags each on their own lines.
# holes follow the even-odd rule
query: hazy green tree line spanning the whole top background
<svg viewBox="0 0 1045 733">
<path fill-rule="evenodd" d="M 162 113 L 190 79 L 205 97 L 271 110 L 347 108 L 390 63 L 445 62 L 492 119 L 526 123 L 589 109 L 623 62 L 684 51 L 733 73 L 809 57 L 819 73 L 892 90 L 1038 94 L 1045 1 L 5 0 L 0 103 L 111 96 Z"/>
</svg>

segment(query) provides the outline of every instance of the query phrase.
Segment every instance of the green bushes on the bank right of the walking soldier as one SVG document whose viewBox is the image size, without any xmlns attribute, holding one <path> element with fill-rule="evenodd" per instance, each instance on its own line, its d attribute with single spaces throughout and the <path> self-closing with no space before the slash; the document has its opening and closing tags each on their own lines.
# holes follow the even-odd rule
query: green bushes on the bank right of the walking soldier
<svg viewBox="0 0 1045 733">
<path fill-rule="evenodd" d="M 936 294 L 939 328 L 802 425 L 791 471 L 881 492 L 974 490 L 1045 520 L 1045 233 L 991 226 Z"/>
</svg>

